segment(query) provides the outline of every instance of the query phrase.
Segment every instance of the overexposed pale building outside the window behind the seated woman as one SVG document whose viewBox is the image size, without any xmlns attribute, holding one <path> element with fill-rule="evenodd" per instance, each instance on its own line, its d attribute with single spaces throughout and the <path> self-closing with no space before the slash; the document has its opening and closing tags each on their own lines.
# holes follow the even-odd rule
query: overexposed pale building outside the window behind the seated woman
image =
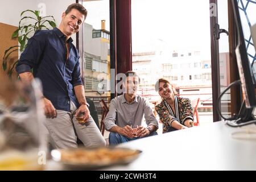
<svg viewBox="0 0 256 182">
<path fill-rule="evenodd" d="M 200 111 L 212 111 L 211 61 L 205 59 L 200 51 L 133 53 L 133 70 L 142 80 L 138 93 L 152 103 L 160 99 L 154 89 L 155 82 L 165 77 L 180 96 L 191 99 L 192 105 L 200 98 Z"/>
</svg>

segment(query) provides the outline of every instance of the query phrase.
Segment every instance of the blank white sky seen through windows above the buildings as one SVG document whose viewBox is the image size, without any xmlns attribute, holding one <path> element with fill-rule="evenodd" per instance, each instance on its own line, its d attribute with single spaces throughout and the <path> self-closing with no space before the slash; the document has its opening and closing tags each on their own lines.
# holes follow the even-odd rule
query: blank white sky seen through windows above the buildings
<svg viewBox="0 0 256 182">
<path fill-rule="evenodd" d="M 101 20 L 105 19 L 109 30 L 108 0 L 84 2 L 84 6 L 88 10 L 86 23 L 100 29 Z M 159 48 L 192 49 L 210 57 L 209 9 L 207 0 L 131 0 L 133 53 Z M 220 23 L 228 28 L 227 14 L 222 16 L 225 18 Z M 224 40 L 220 52 L 226 52 L 228 36 L 221 36 Z"/>
</svg>

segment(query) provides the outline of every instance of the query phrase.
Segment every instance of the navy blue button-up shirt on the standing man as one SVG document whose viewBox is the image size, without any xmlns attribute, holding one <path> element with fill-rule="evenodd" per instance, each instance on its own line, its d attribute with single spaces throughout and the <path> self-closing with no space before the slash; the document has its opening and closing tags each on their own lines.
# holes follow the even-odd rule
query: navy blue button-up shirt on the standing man
<svg viewBox="0 0 256 182">
<path fill-rule="evenodd" d="M 69 38 L 67 59 L 65 39 L 65 35 L 58 28 L 35 32 L 20 55 L 16 71 L 31 72 L 33 68 L 34 77 L 42 81 L 44 96 L 52 102 L 55 109 L 70 111 L 70 101 L 79 107 L 73 87 L 83 84 L 79 52 L 72 44 L 72 38 Z"/>
</svg>

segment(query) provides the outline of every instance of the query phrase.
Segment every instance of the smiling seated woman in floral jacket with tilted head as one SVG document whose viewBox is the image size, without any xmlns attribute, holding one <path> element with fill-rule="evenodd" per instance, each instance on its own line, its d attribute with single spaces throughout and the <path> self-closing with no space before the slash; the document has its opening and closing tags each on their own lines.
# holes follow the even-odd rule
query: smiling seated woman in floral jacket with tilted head
<svg viewBox="0 0 256 182">
<path fill-rule="evenodd" d="M 177 97 L 174 86 L 166 78 L 156 82 L 155 90 L 162 97 L 155 109 L 163 123 L 163 133 L 193 126 L 193 108 L 188 98 Z"/>
</svg>

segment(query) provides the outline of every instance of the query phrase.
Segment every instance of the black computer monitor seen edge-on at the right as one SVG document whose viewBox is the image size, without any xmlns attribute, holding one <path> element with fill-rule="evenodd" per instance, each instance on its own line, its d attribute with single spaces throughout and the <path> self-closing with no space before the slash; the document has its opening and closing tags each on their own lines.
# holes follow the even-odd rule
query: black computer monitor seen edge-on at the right
<svg viewBox="0 0 256 182">
<path fill-rule="evenodd" d="M 245 36 L 244 36 L 245 34 L 243 32 L 243 29 L 244 29 L 243 26 L 245 25 L 245 23 L 243 23 L 243 26 L 242 26 L 241 11 L 238 7 L 237 0 L 232 1 L 232 4 L 233 4 L 236 28 L 238 32 L 239 44 L 237 45 L 237 48 L 236 48 L 236 57 L 237 57 L 238 71 L 240 74 L 242 92 L 245 98 L 246 108 L 252 108 L 256 106 L 256 98 L 255 98 L 255 91 L 254 91 L 255 79 L 254 79 L 253 69 L 251 68 L 252 63 L 250 62 L 249 55 L 247 54 L 246 43 L 248 42 L 248 40 L 245 39 Z M 246 32 L 246 34 L 248 34 L 248 32 Z M 250 29 L 249 29 L 249 34 L 250 34 Z"/>
</svg>

